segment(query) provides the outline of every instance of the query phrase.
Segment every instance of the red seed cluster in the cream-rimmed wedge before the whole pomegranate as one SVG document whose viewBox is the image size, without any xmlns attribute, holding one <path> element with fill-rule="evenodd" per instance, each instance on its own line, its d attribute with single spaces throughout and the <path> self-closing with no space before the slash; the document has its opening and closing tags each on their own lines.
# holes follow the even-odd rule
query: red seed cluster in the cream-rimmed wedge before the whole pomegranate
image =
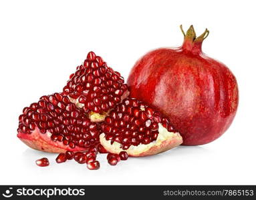
<svg viewBox="0 0 256 200">
<path fill-rule="evenodd" d="M 110 111 L 102 123 L 102 131 L 111 144 L 116 141 L 126 150 L 130 145 L 147 145 L 155 141 L 159 133 L 158 123 L 174 132 L 166 117 L 138 99 L 126 98 Z"/>
</svg>

